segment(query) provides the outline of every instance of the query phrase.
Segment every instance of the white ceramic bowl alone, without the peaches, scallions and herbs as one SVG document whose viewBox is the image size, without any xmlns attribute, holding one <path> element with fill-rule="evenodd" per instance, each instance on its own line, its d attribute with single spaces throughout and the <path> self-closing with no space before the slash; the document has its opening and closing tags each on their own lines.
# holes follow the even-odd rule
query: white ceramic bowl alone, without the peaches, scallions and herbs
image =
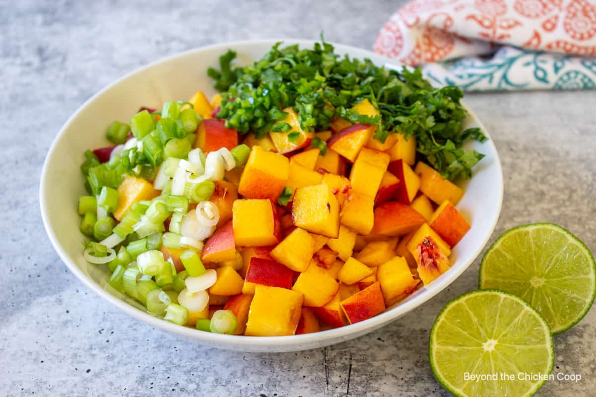
<svg viewBox="0 0 596 397">
<path fill-rule="evenodd" d="M 475 168 L 473 179 L 462 186 L 465 195 L 458 208 L 471 221 L 471 230 L 453 250 L 452 267 L 433 283 L 383 313 L 324 332 L 277 337 L 201 332 L 154 317 L 133 299 L 108 286 L 107 267 L 89 264 L 82 255 L 83 237 L 79 232 L 80 217 L 76 203 L 77 198 L 85 194 L 79 168 L 83 151 L 106 146 L 105 126 L 113 120 L 129 120 L 140 106 L 160 108 L 162 102 L 190 98 L 198 89 L 204 90 L 207 95 L 214 94 L 213 83 L 206 70 L 207 67 L 218 66 L 218 57 L 228 48 L 237 51 L 238 62 L 248 64 L 259 59 L 277 41 L 249 40 L 194 49 L 143 67 L 105 87 L 64 124 L 49 149 L 41 176 L 39 199 L 46 232 L 60 258 L 86 286 L 138 320 L 216 348 L 247 352 L 298 351 L 343 342 L 378 329 L 428 301 L 460 276 L 485 246 L 501 211 L 503 180 L 495 146 L 491 140 L 486 143 L 470 142 L 470 148 L 486 157 Z M 285 40 L 285 43 L 313 45 L 311 40 Z M 336 45 L 336 51 L 350 57 L 370 58 L 378 65 L 392 64 L 387 58 L 364 49 Z M 471 113 L 467 124 L 482 127 Z"/>
</svg>

